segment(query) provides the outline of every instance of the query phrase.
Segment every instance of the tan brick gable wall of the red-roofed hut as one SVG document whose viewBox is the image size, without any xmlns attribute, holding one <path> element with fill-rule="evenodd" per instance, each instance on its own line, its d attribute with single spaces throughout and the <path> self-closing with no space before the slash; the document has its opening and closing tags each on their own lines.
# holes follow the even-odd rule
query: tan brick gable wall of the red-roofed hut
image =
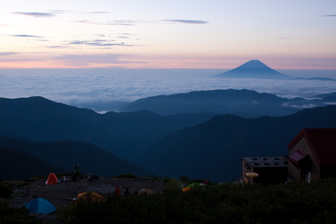
<svg viewBox="0 0 336 224">
<path fill-rule="evenodd" d="M 289 155 L 296 150 L 301 150 L 309 155 L 310 168 L 308 171 L 310 174 L 310 180 L 317 180 L 320 178 L 320 167 L 318 166 L 309 146 L 304 137 L 302 137 L 290 150 Z M 300 177 L 300 170 L 294 166 L 292 162 L 288 164 L 288 177 L 294 181 L 298 181 Z M 308 180 L 308 175 L 306 175 L 306 181 Z"/>
</svg>

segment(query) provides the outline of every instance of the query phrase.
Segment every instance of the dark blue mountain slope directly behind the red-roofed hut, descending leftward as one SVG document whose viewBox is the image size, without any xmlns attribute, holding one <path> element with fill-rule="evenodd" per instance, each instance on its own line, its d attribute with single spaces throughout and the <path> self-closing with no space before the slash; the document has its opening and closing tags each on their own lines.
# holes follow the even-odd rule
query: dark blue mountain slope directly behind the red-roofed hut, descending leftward
<svg viewBox="0 0 336 224">
<path fill-rule="evenodd" d="M 285 117 L 220 115 L 160 139 L 138 165 L 160 176 L 234 181 L 241 177 L 242 157 L 288 155 L 287 144 L 301 129 L 335 127 L 336 105 Z"/>
</svg>

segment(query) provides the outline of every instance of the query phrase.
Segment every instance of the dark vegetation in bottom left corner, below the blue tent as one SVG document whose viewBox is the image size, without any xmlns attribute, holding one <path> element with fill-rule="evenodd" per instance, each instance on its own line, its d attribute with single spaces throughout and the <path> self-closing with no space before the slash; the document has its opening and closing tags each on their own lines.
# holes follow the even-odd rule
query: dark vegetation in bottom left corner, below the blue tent
<svg viewBox="0 0 336 224">
<path fill-rule="evenodd" d="M 25 208 L 8 207 L 8 203 L 0 199 L 0 223 L 42 224 L 43 221 L 28 215 L 28 210 Z"/>
</svg>

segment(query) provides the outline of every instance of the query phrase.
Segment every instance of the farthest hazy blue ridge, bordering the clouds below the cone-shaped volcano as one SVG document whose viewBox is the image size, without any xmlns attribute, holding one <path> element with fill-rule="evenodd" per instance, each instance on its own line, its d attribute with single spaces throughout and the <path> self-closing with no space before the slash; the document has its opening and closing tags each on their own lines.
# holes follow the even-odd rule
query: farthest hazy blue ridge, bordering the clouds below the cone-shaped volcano
<svg viewBox="0 0 336 224">
<path fill-rule="evenodd" d="M 330 100 L 328 100 L 330 101 Z M 211 112 L 233 114 L 244 118 L 287 116 L 306 105 L 325 106 L 323 99 L 287 99 L 254 90 L 206 90 L 138 99 L 120 106 L 116 111 L 148 109 L 160 115 Z M 336 99 L 334 100 L 336 102 Z"/>
</svg>

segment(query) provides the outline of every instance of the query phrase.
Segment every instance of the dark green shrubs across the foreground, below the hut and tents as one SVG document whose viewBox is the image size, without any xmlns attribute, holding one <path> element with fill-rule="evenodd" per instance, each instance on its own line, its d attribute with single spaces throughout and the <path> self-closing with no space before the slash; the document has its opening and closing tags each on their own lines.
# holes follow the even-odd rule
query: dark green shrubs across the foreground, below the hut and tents
<svg viewBox="0 0 336 224">
<path fill-rule="evenodd" d="M 334 223 L 336 180 L 287 185 L 224 183 L 183 193 L 108 195 L 81 200 L 58 213 L 71 223 Z"/>
</svg>

